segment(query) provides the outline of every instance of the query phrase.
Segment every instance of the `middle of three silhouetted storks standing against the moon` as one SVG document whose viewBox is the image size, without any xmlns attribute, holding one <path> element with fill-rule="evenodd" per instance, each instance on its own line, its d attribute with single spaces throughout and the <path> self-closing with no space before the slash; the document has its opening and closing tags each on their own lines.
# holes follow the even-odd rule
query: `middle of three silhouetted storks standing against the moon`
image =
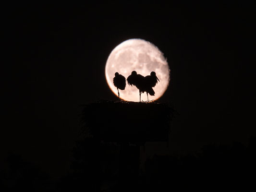
<svg viewBox="0 0 256 192">
<path fill-rule="evenodd" d="M 128 77 L 127 82 L 131 86 L 136 86 L 139 89 L 139 94 L 141 98 L 141 93 L 145 92 L 145 77 L 141 74 L 137 74 L 136 71 L 133 71 Z"/>
</svg>

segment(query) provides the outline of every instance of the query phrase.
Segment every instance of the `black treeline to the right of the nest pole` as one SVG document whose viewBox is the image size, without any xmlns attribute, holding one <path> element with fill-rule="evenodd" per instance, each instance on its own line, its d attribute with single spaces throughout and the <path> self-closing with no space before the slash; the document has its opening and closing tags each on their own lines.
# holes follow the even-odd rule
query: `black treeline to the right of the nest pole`
<svg viewBox="0 0 256 192">
<path fill-rule="evenodd" d="M 146 160 L 148 191 L 173 187 L 231 190 L 254 186 L 256 180 L 256 138 L 248 147 L 239 142 L 206 145 L 200 152 L 183 156 L 155 155 Z"/>
</svg>

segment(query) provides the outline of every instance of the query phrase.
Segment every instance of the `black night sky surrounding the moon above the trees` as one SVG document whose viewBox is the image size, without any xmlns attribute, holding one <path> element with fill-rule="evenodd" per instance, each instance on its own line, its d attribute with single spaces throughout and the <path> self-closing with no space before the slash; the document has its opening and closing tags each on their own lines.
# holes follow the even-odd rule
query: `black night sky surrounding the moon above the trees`
<svg viewBox="0 0 256 192">
<path fill-rule="evenodd" d="M 16 4 L 4 12 L 4 126 L 1 151 L 20 153 L 62 174 L 78 138 L 79 105 L 115 100 L 105 64 L 124 40 L 155 44 L 171 69 L 170 147 L 186 153 L 205 144 L 256 135 L 253 111 L 255 8 L 250 4 Z M 3 159 L 4 159 L 3 158 Z"/>
</svg>

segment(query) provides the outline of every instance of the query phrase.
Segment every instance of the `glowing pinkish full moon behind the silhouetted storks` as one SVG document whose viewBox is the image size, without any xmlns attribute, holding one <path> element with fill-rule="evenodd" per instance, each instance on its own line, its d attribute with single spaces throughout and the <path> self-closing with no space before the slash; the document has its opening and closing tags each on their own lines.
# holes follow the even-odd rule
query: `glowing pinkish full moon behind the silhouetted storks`
<svg viewBox="0 0 256 192">
<path fill-rule="evenodd" d="M 113 84 L 115 72 L 122 74 L 125 79 L 136 71 L 143 76 L 154 71 L 160 82 L 153 87 L 155 96 L 148 94 L 149 100 L 157 100 L 166 91 L 170 81 L 170 68 L 163 53 L 152 43 L 143 39 L 129 39 L 112 50 L 106 63 L 105 75 L 112 92 L 118 96 Z M 126 101 L 139 101 L 139 90 L 126 82 L 124 90 L 119 90 L 120 98 Z M 147 100 L 146 92 L 141 94 L 142 101 Z"/>
</svg>

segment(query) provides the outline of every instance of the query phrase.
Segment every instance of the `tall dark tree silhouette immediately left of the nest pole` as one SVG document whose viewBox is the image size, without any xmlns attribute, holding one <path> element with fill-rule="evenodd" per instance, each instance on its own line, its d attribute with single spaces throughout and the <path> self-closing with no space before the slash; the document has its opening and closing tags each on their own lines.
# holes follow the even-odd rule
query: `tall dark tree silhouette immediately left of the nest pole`
<svg viewBox="0 0 256 192">
<path fill-rule="evenodd" d="M 60 191 L 99 192 L 114 185 L 118 173 L 118 150 L 118 146 L 94 138 L 77 141 L 72 150 L 72 171 L 61 178 Z"/>
</svg>

